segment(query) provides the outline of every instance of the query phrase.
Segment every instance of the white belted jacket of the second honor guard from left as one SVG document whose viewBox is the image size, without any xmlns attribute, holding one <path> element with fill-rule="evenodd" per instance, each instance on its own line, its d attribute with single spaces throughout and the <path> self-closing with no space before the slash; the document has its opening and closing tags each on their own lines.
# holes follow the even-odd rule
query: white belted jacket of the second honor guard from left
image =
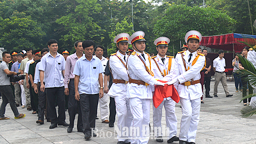
<svg viewBox="0 0 256 144">
<path fill-rule="evenodd" d="M 156 79 L 148 74 L 146 71 L 146 68 L 143 64 L 143 62 L 140 60 L 140 58 L 146 63 L 146 66 L 148 69 L 150 69 L 150 61 L 151 58 L 149 55 L 147 55 L 145 52 L 145 59 L 142 57 L 140 52 L 134 51 L 134 55 L 130 55 L 127 60 L 127 67 L 128 72 L 130 75 L 130 78 L 141 80 L 145 83 L 148 83 L 149 85 L 154 85 L 156 83 Z M 140 57 L 140 58 L 139 58 Z M 150 61 L 149 61 L 150 59 Z M 151 61 L 152 63 L 152 61 Z M 151 65 L 151 70 L 152 70 Z M 151 86 L 146 85 L 138 85 L 135 83 L 128 83 L 127 84 L 127 98 L 140 98 L 140 99 L 152 99 L 152 90 Z"/>
</svg>

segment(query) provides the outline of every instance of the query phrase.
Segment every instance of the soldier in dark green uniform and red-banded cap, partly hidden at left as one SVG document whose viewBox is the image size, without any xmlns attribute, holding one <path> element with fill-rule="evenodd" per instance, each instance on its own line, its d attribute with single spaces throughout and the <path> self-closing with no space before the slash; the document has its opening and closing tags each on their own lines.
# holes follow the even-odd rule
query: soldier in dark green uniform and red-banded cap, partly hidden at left
<svg viewBox="0 0 256 144">
<path fill-rule="evenodd" d="M 35 61 L 31 62 L 29 65 L 29 69 L 28 69 L 28 75 L 29 75 L 29 80 L 31 82 L 31 87 L 32 87 L 32 94 L 30 94 L 30 97 L 34 98 L 34 103 L 35 103 L 35 107 L 36 107 L 36 112 L 38 113 L 38 95 L 35 93 L 34 91 L 34 76 L 35 76 L 35 69 L 36 69 L 36 64 L 41 61 L 42 58 L 42 54 L 41 54 L 41 50 L 35 50 Z"/>
</svg>

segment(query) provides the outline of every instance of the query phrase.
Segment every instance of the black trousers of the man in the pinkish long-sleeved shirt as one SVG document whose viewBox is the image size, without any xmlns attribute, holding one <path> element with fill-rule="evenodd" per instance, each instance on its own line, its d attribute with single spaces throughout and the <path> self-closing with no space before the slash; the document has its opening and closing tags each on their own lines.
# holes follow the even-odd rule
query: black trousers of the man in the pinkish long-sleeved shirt
<svg viewBox="0 0 256 144">
<path fill-rule="evenodd" d="M 78 113 L 77 130 L 83 130 L 83 120 L 80 103 L 75 99 L 74 79 L 69 80 L 68 90 L 69 127 L 74 127 L 75 116 Z"/>
</svg>

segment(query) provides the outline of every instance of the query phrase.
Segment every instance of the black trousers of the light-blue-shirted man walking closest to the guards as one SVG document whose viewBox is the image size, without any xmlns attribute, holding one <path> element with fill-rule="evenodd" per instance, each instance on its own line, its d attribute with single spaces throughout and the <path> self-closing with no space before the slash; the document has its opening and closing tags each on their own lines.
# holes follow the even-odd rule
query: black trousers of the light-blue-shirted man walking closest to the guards
<svg viewBox="0 0 256 144">
<path fill-rule="evenodd" d="M 98 94 L 80 94 L 80 106 L 83 117 L 84 134 L 91 133 L 95 128 L 95 118 L 99 103 Z"/>
</svg>

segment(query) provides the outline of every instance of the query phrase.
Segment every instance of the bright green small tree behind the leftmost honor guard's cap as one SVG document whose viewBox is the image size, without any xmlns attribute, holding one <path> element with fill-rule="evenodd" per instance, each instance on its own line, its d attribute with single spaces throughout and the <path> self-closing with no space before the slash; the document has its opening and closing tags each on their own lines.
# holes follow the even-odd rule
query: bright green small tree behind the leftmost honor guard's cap
<svg viewBox="0 0 256 144">
<path fill-rule="evenodd" d="M 126 19 L 122 20 L 121 23 L 116 23 L 115 30 L 109 35 L 112 43 L 109 46 L 108 54 L 116 52 L 116 43 L 114 43 L 114 38 L 116 37 L 116 35 L 121 33 L 127 33 L 131 36 L 134 33 L 134 31 L 132 30 L 132 23 L 127 22 Z M 129 48 L 132 49 L 132 46 L 129 45 Z"/>
</svg>

